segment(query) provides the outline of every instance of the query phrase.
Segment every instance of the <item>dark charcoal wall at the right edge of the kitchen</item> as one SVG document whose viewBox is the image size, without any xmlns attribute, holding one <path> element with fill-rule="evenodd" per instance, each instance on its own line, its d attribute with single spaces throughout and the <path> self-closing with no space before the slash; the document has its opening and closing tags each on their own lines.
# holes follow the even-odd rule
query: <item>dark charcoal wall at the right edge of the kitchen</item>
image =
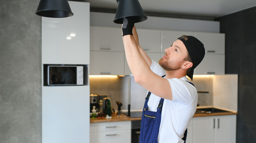
<svg viewBox="0 0 256 143">
<path fill-rule="evenodd" d="M 238 74 L 237 143 L 256 142 L 256 7 L 215 19 L 225 33 L 225 72 Z"/>
</svg>

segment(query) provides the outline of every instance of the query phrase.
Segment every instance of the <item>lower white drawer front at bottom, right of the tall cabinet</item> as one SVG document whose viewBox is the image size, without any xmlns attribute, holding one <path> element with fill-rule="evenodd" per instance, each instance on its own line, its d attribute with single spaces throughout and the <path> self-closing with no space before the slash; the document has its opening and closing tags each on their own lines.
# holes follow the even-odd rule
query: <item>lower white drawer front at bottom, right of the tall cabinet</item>
<svg viewBox="0 0 256 143">
<path fill-rule="evenodd" d="M 131 131 L 90 133 L 90 143 L 131 143 Z"/>
</svg>

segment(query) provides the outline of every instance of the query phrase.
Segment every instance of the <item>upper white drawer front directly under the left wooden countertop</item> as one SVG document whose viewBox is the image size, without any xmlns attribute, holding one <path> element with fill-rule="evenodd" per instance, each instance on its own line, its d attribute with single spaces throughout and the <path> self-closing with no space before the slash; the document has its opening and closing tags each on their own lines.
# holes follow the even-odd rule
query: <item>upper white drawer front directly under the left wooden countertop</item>
<svg viewBox="0 0 256 143">
<path fill-rule="evenodd" d="M 90 133 L 131 130 L 131 121 L 90 123 Z"/>
</svg>

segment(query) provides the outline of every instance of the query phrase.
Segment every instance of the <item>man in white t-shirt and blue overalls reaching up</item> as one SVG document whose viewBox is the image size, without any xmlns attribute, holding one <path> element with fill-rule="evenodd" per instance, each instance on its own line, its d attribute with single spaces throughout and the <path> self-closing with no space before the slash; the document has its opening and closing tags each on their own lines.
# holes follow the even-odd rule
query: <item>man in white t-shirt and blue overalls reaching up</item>
<svg viewBox="0 0 256 143">
<path fill-rule="evenodd" d="M 134 79 L 150 91 L 142 112 L 140 142 L 183 143 L 198 98 L 186 75 L 193 79 L 193 71 L 205 54 L 203 43 L 195 37 L 182 36 L 165 49 L 157 63 L 140 47 L 133 19 L 123 18 L 122 33 Z"/>
</svg>

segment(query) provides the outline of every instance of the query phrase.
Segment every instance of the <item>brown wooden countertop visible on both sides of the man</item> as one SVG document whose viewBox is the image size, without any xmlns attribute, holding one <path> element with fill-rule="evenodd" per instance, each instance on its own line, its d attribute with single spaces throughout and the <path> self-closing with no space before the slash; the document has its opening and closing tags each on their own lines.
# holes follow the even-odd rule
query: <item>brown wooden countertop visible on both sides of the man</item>
<svg viewBox="0 0 256 143">
<path fill-rule="evenodd" d="M 206 114 L 206 113 L 195 113 L 195 115 L 193 117 L 207 117 L 207 116 L 222 116 L 222 115 L 237 115 L 237 112 L 222 112 L 222 113 L 210 113 L 210 114 Z M 132 121 L 132 120 L 141 120 L 141 117 L 139 118 L 131 118 L 128 117 L 124 114 L 122 114 L 121 117 L 117 117 L 117 115 L 115 113 L 113 113 L 112 115 L 112 119 L 92 119 L 90 118 L 90 123 L 101 123 L 101 122 L 116 122 L 116 121 Z"/>
</svg>

